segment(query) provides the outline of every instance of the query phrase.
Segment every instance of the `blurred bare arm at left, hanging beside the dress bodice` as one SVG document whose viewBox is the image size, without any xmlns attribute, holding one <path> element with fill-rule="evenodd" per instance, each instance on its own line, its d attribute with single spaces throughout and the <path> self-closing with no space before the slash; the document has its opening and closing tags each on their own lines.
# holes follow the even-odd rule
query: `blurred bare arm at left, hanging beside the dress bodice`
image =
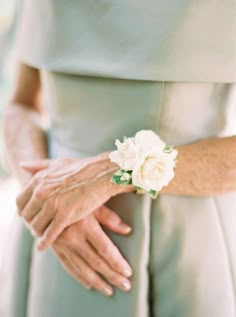
<svg viewBox="0 0 236 317">
<path fill-rule="evenodd" d="M 15 88 L 4 114 L 7 159 L 21 184 L 31 177 L 20 161 L 47 157 L 47 141 L 42 129 L 39 71 L 19 65 Z"/>
</svg>

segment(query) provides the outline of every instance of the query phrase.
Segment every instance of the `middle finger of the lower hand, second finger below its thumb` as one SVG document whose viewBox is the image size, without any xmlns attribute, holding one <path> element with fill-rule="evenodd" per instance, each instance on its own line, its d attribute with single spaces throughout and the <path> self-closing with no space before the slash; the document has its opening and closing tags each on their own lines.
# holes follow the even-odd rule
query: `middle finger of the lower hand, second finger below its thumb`
<svg viewBox="0 0 236 317">
<path fill-rule="evenodd" d="M 102 274 L 110 284 L 117 286 L 124 292 L 131 289 L 130 281 L 126 277 L 112 270 L 107 262 L 89 243 L 83 243 L 82 247 L 80 246 L 79 254 L 95 272 Z"/>
</svg>

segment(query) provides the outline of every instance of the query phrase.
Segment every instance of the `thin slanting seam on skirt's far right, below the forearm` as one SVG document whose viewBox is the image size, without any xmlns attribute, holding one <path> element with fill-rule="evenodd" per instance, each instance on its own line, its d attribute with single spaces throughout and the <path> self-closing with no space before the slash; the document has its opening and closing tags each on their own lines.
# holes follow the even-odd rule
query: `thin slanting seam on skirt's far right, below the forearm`
<svg viewBox="0 0 236 317">
<path fill-rule="evenodd" d="M 218 205 L 216 197 L 213 197 L 213 201 L 214 201 L 214 204 L 215 204 L 216 215 L 217 215 L 217 218 L 218 218 L 219 226 L 220 226 L 221 233 L 222 233 L 222 239 L 223 239 L 224 247 L 225 247 L 226 259 L 227 259 L 227 263 L 228 263 L 228 269 L 229 269 L 229 275 L 230 275 L 230 278 L 231 278 L 231 286 L 232 286 L 232 293 L 233 293 L 233 310 L 234 310 L 234 316 L 236 317 L 236 307 L 235 307 L 236 285 L 235 285 L 234 278 L 233 278 L 233 265 L 232 265 L 232 261 L 230 260 L 229 244 L 227 242 L 227 238 L 226 238 L 226 233 L 225 233 L 225 230 L 224 230 L 222 217 L 221 217 L 221 214 L 220 214 L 220 208 L 219 208 L 219 205 Z"/>
</svg>

